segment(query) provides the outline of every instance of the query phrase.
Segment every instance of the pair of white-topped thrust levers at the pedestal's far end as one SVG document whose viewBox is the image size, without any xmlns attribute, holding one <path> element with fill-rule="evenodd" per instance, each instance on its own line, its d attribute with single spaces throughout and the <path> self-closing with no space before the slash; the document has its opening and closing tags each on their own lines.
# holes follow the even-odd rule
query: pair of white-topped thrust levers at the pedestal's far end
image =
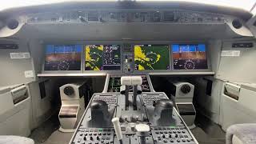
<svg viewBox="0 0 256 144">
<path fill-rule="evenodd" d="M 129 100 L 128 100 L 129 89 L 130 89 L 130 86 L 133 86 L 133 91 L 134 91 L 133 106 L 136 109 L 137 94 L 142 94 L 142 77 L 140 76 L 121 77 L 121 85 L 122 86 L 120 87 L 120 93 L 125 94 L 126 96 L 126 107 L 129 106 Z"/>
</svg>

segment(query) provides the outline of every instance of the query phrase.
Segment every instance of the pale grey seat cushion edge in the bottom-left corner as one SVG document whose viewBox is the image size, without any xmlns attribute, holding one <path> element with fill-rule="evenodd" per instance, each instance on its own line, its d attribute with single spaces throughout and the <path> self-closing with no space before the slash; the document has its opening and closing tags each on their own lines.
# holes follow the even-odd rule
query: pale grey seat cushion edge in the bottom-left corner
<svg viewBox="0 0 256 144">
<path fill-rule="evenodd" d="M 0 144 L 34 144 L 34 140 L 14 135 L 0 135 Z"/>
</svg>

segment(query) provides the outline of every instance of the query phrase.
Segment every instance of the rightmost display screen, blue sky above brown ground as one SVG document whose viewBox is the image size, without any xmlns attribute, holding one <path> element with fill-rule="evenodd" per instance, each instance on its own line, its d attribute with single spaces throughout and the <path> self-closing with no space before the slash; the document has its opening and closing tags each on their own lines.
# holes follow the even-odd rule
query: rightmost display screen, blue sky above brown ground
<svg viewBox="0 0 256 144">
<path fill-rule="evenodd" d="M 208 69 L 205 44 L 172 45 L 174 70 Z"/>
</svg>

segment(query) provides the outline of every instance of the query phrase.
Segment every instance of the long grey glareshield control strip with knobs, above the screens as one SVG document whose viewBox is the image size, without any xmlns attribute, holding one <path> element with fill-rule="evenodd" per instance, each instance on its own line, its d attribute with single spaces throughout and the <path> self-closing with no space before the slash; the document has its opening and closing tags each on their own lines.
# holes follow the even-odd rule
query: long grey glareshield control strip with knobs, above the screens
<svg viewBox="0 0 256 144">
<path fill-rule="evenodd" d="M 28 15 L 27 22 L 224 22 L 222 14 L 191 10 L 63 10 Z"/>
</svg>

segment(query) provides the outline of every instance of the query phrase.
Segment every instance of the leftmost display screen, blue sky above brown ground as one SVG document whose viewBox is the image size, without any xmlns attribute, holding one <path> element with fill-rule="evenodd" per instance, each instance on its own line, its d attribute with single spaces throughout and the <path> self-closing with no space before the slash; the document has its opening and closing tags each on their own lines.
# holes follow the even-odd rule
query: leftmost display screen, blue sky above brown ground
<svg viewBox="0 0 256 144">
<path fill-rule="evenodd" d="M 46 45 L 44 70 L 81 70 L 82 45 Z"/>
</svg>

